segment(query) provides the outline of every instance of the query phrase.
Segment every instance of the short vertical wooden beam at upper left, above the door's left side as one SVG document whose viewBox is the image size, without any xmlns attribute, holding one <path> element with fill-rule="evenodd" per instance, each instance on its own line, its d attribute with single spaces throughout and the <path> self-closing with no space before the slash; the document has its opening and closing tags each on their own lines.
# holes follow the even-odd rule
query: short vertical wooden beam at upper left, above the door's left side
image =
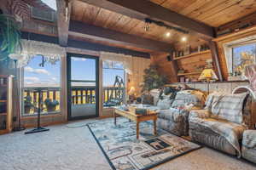
<svg viewBox="0 0 256 170">
<path fill-rule="evenodd" d="M 67 46 L 68 28 L 71 14 L 71 3 L 68 0 L 56 0 L 58 17 L 59 44 Z"/>
</svg>

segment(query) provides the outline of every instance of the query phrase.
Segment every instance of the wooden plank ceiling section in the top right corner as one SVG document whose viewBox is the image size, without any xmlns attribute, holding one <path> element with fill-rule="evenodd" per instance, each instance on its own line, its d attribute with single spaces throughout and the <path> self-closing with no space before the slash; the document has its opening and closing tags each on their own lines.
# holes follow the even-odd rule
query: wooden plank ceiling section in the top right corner
<svg viewBox="0 0 256 170">
<path fill-rule="evenodd" d="M 222 26 L 256 12 L 256 0 L 150 0 L 208 26 Z"/>
</svg>

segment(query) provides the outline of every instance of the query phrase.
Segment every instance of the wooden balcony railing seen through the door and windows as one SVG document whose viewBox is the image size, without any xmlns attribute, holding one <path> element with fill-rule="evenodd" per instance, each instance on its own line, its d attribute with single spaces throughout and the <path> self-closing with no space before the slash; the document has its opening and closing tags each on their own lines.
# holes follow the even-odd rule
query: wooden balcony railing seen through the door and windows
<svg viewBox="0 0 256 170">
<path fill-rule="evenodd" d="M 38 87 L 37 88 L 23 88 L 23 114 L 34 115 L 37 114 L 38 108 Z M 42 114 L 55 113 L 60 111 L 60 105 L 56 105 L 54 108 L 49 109 L 49 106 L 45 105 L 45 99 L 49 99 L 51 102 L 57 101 L 60 104 L 61 88 L 43 88 L 42 89 L 42 102 L 43 111 Z M 109 103 L 110 100 L 121 99 L 123 104 L 125 96 L 125 88 L 103 88 L 104 105 Z M 72 88 L 72 104 L 73 105 L 85 105 L 96 104 L 96 91 L 94 87 L 73 87 Z"/>
</svg>

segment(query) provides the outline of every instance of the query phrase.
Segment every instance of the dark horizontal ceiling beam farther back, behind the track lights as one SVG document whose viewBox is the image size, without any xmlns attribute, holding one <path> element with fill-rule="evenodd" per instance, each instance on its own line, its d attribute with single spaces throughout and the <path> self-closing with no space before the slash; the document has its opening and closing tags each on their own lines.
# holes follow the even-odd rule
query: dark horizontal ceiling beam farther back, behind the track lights
<svg viewBox="0 0 256 170">
<path fill-rule="evenodd" d="M 70 21 L 69 35 L 74 37 L 90 38 L 103 42 L 118 43 L 135 48 L 150 49 L 152 51 L 170 53 L 173 49 L 172 44 L 166 42 L 137 37 L 135 35 L 113 31 L 99 26 L 92 26 L 74 20 Z"/>
</svg>

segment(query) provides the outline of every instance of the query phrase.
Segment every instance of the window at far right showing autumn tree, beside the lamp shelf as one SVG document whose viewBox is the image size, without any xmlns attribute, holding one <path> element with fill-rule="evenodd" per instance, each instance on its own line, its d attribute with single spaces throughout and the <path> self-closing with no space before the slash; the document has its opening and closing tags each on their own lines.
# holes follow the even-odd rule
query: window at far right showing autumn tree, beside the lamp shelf
<svg viewBox="0 0 256 170">
<path fill-rule="evenodd" d="M 256 43 L 232 48 L 232 73 L 240 75 L 245 65 L 256 63 Z"/>
</svg>

